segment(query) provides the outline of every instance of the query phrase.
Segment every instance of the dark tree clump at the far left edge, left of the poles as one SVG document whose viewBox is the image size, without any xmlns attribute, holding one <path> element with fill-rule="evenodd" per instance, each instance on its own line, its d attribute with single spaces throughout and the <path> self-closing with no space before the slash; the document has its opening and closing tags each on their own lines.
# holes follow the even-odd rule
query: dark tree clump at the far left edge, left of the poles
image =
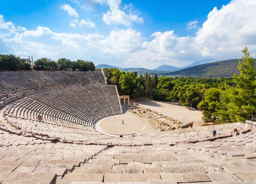
<svg viewBox="0 0 256 184">
<path fill-rule="evenodd" d="M 0 69 L 1 70 L 29 70 L 31 67 L 30 61 L 25 58 L 16 57 L 13 54 L 0 54 Z"/>
</svg>

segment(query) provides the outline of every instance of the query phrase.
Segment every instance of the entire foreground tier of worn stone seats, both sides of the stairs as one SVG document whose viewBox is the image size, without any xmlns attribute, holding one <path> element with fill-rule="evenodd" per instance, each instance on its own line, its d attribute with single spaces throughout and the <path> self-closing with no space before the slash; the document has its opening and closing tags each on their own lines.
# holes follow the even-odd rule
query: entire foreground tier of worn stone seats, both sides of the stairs
<svg viewBox="0 0 256 184">
<path fill-rule="evenodd" d="M 108 147 L 50 143 L 0 130 L 0 181 L 31 184 L 254 184 L 255 143 L 256 131 L 175 146 Z"/>
</svg>

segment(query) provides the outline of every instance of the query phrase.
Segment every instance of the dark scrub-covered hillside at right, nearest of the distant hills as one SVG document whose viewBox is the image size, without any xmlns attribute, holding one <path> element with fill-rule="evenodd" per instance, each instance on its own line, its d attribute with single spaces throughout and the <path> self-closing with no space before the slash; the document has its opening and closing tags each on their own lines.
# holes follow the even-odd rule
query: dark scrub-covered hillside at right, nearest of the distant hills
<svg viewBox="0 0 256 184">
<path fill-rule="evenodd" d="M 167 76 L 232 77 L 239 74 L 238 59 L 229 59 L 166 73 Z"/>
</svg>

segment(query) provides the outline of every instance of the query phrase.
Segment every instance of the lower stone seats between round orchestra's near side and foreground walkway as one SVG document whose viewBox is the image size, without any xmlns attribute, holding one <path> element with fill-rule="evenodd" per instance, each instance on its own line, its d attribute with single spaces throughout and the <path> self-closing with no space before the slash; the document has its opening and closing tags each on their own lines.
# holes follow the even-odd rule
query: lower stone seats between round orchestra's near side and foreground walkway
<svg viewBox="0 0 256 184">
<path fill-rule="evenodd" d="M 207 140 L 222 139 L 231 137 L 231 132 L 237 128 L 238 132 L 242 134 L 249 129 L 245 127 L 244 123 L 226 123 L 223 125 L 212 125 L 195 128 L 176 129 L 164 132 L 149 132 L 138 133 L 135 137 L 113 137 L 107 140 L 97 140 L 99 144 L 116 144 L 116 145 L 142 145 L 142 144 L 168 144 L 176 145 L 179 143 L 196 143 Z M 217 131 L 216 137 L 213 137 L 212 131 Z"/>
</svg>

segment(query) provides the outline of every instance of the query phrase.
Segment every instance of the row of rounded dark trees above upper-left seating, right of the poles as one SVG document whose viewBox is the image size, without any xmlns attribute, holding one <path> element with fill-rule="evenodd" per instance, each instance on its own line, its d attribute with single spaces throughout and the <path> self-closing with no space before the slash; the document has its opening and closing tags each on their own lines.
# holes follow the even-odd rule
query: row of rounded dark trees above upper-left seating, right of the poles
<svg viewBox="0 0 256 184">
<path fill-rule="evenodd" d="M 56 62 L 49 58 L 40 58 L 34 62 L 34 68 L 37 70 L 94 71 L 95 65 L 90 61 L 84 61 L 82 59 L 71 61 L 70 59 L 60 58 Z"/>
</svg>

